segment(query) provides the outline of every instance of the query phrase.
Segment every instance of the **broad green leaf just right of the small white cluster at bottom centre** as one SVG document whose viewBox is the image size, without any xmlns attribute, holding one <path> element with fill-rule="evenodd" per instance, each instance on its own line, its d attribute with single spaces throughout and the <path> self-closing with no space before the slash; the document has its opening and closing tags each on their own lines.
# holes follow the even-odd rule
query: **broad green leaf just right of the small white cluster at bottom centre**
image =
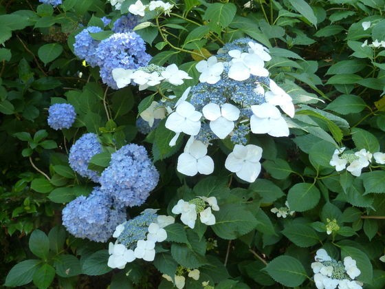
<svg viewBox="0 0 385 289">
<path fill-rule="evenodd" d="M 222 239 L 236 239 L 256 228 L 258 222 L 241 204 L 224 204 L 214 213 L 216 222 L 212 230 Z"/>
</svg>

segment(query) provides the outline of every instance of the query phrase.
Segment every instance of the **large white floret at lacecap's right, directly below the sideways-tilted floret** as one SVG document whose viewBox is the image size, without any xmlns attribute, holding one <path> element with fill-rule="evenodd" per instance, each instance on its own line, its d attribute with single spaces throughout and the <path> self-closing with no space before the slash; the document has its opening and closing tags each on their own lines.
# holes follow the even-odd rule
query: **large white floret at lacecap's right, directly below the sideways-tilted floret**
<svg viewBox="0 0 385 289">
<path fill-rule="evenodd" d="M 289 127 L 281 112 L 270 103 L 251 106 L 250 129 L 253 133 L 268 133 L 270 136 L 289 136 Z"/>
</svg>

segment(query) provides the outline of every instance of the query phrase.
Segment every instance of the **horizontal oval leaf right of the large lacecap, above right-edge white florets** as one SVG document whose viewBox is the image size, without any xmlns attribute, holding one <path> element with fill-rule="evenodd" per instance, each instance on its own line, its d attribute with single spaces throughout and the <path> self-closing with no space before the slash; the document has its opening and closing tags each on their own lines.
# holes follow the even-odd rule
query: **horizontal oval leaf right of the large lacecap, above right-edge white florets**
<svg viewBox="0 0 385 289">
<path fill-rule="evenodd" d="M 342 94 L 333 100 L 326 109 L 336 111 L 338 114 L 357 114 L 366 108 L 366 103 L 360 96 Z"/>
</svg>

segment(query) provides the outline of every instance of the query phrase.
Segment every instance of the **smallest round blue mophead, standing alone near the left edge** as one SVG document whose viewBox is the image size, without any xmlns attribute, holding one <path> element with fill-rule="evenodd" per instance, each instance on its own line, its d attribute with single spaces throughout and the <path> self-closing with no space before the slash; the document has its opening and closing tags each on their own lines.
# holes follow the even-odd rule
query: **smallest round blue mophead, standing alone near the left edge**
<svg viewBox="0 0 385 289">
<path fill-rule="evenodd" d="M 47 122 L 52 129 L 69 129 L 76 119 L 75 108 L 67 103 L 55 103 L 48 109 Z"/>
</svg>

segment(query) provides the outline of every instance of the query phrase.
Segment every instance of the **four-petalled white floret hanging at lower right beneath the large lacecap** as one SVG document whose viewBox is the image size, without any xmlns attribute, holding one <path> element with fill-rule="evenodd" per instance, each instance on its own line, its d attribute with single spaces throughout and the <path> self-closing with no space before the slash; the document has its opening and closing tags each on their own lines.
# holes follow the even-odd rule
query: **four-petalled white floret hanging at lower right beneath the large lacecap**
<svg viewBox="0 0 385 289">
<path fill-rule="evenodd" d="M 254 144 L 235 144 L 232 153 L 225 160 L 225 168 L 236 173 L 246 182 L 254 182 L 261 172 L 262 148 Z"/>
</svg>

